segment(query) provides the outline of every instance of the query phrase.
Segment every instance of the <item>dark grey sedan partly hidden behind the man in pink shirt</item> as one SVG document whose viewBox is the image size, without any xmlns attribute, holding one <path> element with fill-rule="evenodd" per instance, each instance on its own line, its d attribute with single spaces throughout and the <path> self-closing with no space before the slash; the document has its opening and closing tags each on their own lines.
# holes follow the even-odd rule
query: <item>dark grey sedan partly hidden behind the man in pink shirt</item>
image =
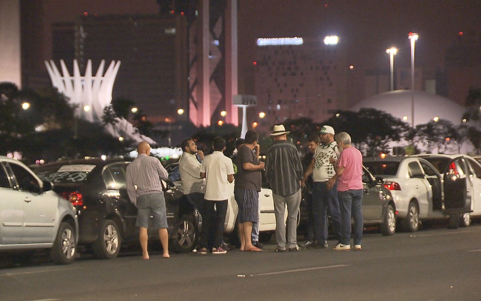
<svg viewBox="0 0 481 301">
<path fill-rule="evenodd" d="M 379 226 L 382 235 L 393 235 L 396 231 L 396 207 L 391 192 L 383 186 L 382 179 L 376 179 L 371 172 L 363 166 L 362 173 L 363 198 L 362 215 L 365 226 Z M 298 231 L 306 231 L 309 215 L 309 202 L 312 193 L 309 187 L 303 190 L 301 199 L 301 221 Z M 331 229 L 329 229 L 330 231 Z"/>
</svg>

